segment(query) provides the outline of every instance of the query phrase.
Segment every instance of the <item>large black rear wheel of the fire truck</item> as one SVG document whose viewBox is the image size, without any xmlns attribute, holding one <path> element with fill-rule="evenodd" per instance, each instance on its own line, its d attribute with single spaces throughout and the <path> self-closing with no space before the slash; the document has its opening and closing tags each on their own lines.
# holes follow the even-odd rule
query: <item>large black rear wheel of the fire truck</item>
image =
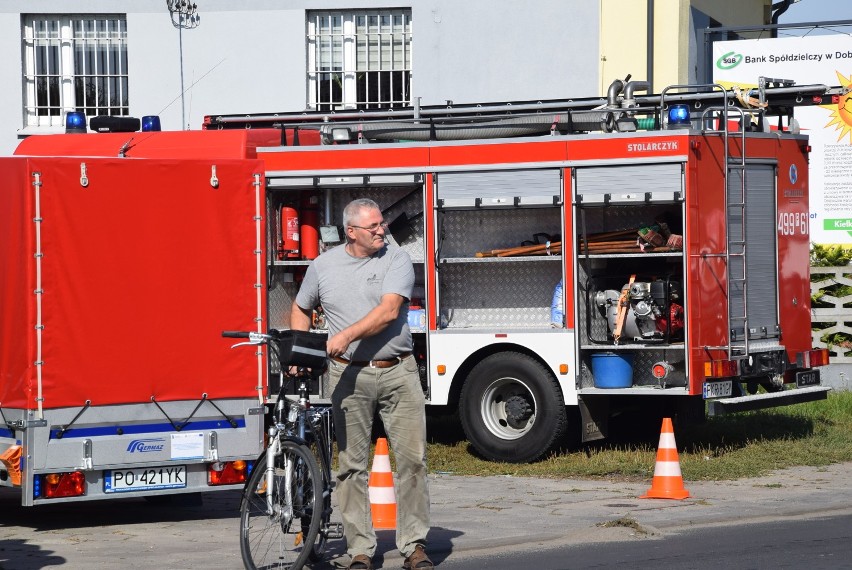
<svg viewBox="0 0 852 570">
<path fill-rule="evenodd" d="M 567 425 L 556 379 L 518 352 L 493 354 L 471 370 L 459 412 L 471 445 L 492 461 L 535 461 L 562 438 Z"/>
</svg>

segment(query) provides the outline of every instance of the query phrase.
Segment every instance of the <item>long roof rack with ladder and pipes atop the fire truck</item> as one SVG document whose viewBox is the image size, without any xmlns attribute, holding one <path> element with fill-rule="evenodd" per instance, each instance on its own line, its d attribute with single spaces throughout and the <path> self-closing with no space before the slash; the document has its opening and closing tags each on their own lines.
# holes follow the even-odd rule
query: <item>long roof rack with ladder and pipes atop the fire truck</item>
<svg viewBox="0 0 852 570">
<path fill-rule="evenodd" d="M 736 107 L 754 116 L 762 128 L 766 117 L 779 117 L 780 126 L 781 118 L 792 118 L 795 107 L 830 104 L 848 91 L 761 77 L 751 89 L 676 85 L 660 94 L 635 95 L 647 89 L 644 81 L 615 80 L 606 97 L 429 106 L 416 100 L 414 106 L 390 109 L 208 115 L 203 128 L 312 129 L 319 130 L 326 143 L 623 132 L 666 128 L 667 110 L 675 105 L 686 106 L 693 117 L 710 107 Z"/>
</svg>

